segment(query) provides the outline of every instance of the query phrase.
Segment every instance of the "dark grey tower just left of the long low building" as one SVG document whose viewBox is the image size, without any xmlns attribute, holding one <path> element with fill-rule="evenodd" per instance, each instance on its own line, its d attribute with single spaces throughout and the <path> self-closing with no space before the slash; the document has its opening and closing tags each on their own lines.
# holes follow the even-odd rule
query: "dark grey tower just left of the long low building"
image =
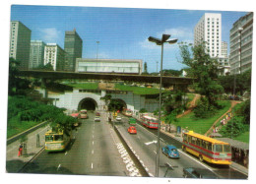
<svg viewBox="0 0 256 184">
<path fill-rule="evenodd" d="M 75 71 L 76 58 L 82 58 L 83 40 L 74 31 L 65 31 L 64 50 L 66 51 L 65 71 Z"/>
</svg>

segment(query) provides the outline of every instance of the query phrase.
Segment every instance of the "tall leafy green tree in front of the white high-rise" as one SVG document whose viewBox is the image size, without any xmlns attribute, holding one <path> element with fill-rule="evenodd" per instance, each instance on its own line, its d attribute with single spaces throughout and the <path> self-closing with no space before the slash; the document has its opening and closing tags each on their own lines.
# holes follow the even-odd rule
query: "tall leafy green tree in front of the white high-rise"
<svg viewBox="0 0 256 184">
<path fill-rule="evenodd" d="M 204 105 L 207 112 L 219 107 L 217 100 L 224 89 L 217 82 L 218 61 L 206 53 L 205 45 L 205 43 L 197 46 L 180 44 L 179 47 L 182 63 L 190 67 L 190 75 L 196 79 L 194 83 L 196 92 L 205 96 L 200 105 Z"/>
</svg>

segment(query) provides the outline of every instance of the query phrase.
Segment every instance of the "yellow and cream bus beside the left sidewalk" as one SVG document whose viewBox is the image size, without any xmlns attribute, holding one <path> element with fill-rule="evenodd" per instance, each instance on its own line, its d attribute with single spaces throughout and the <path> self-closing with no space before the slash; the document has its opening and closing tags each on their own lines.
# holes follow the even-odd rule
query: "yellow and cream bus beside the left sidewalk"
<svg viewBox="0 0 256 184">
<path fill-rule="evenodd" d="M 49 130 L 45 133 L 45 151 L 61 152 L 64 151 L 71 141 L 71 135 L 64 131 L 55 132 Z"/>
</svg>

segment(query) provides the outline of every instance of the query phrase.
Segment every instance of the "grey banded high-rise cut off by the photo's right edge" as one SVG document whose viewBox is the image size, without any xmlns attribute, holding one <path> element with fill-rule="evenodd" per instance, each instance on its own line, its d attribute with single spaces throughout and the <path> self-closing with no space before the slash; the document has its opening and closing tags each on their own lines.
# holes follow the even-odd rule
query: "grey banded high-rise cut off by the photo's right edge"
<svg viewBox="0 0 256 184">
<path fill-rule="evenodd" d="M 253 13 L 241 17 L 230 30 L 230 74 L 240 74 L 252 66 Z"/>
</svg>

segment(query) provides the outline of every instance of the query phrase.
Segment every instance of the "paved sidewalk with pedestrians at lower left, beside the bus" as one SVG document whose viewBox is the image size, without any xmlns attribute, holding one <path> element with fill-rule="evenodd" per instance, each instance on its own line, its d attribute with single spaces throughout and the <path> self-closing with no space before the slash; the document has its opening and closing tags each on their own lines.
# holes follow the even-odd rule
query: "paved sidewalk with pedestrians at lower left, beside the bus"
<svg viewBox="0 0 256 184">
<path fill-rule="evenodd" d="M 19 172 L 32 158 L 43 151 L 44 149 L 44 133 L 49 130 L 49 126 L 40 127 L 35 131 L 29 133 L 26 137 L 28 138 L 26 142 L 26 148 L 23 151 L 22 156 L 18 156 L 18 149 L 20 146 L 20 140 L 17 140 L 6 147 L 6 172 L 7 173 L 17 173 Z M 38 136 L 37 136 L 38 135 Z M 39 139 L 38 139 L 39 138 Z M 37 140 L 39 140 L 37 142 Z M 36 142 L 39 143 L 36 147 Z"/>
</svg>

